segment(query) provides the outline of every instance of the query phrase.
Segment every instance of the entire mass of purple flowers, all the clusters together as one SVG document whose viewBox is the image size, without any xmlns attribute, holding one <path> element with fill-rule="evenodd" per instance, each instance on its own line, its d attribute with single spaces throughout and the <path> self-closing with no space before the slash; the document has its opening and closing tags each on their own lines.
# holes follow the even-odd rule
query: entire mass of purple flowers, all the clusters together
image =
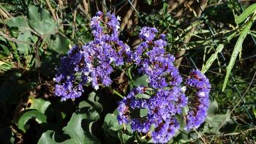
<svg viewBox="0 0 256 144">
<path fill-rule="evenodd" d="M 194 129 L 206 118 L 211 85 L 199 70 L 192 70 L 186 80 L 187 91 L 182 91 L 182 77 L 174 67 L 175 58 L 165 51 L 165 34 L 155 28 L 143 27 L 142 42 L 131 51 L 118 39 L 119 18 L 109 12 L 91 19 L 94 39 L 74 47 L 61 64 L 55 77 L 56 95 L 61 100 L 75 99 L 83 93 L 83 85 L 94 89 L 110 86 L 110 74 L 115 67 L 136 64 L 142 75 L 148 76 L 148 87 L 133 88 L 118 105 L 119 124 L 130 124 L 135 132 L 151 135 L 153 143 L 167 143 L 178 129 Z M 188 96 L 186 96 L 186 95 Z M 188 113 L 183 113 L 185 107 Z M 178 118 L 186 118 L 181 127 Z"/>
</svg>

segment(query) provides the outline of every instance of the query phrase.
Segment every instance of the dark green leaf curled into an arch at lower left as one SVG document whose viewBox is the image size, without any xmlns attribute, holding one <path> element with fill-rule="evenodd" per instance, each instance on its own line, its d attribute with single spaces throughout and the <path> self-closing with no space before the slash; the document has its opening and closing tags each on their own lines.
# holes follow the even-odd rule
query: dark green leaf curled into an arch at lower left
<svg viewBox="0 0 256 144">
<path fill-rule="evenodd" d="M 46 116 L 44 114 L 40 113 L 38 110 L 28 110 L 18 118 L 18 128 L 23 132 L 26 132 L 26 122 L 31 118 L 34 118 L 39 124 L 46 123 Z"/>
</svg>

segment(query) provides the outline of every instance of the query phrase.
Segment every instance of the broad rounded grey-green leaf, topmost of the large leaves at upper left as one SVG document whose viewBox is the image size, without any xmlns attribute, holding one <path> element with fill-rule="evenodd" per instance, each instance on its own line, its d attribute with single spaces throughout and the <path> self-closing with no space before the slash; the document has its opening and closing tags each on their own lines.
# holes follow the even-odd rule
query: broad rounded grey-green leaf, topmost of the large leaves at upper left
<svg viewBox="0 0 256 144">
<path fill-rule="evenodd" d="M 34 5 L 29 6 L 29 25 L 41 35 L 53 34 L 58 29 L 58 24 L 50 18 L 50 12 Z"/>
</svg>

